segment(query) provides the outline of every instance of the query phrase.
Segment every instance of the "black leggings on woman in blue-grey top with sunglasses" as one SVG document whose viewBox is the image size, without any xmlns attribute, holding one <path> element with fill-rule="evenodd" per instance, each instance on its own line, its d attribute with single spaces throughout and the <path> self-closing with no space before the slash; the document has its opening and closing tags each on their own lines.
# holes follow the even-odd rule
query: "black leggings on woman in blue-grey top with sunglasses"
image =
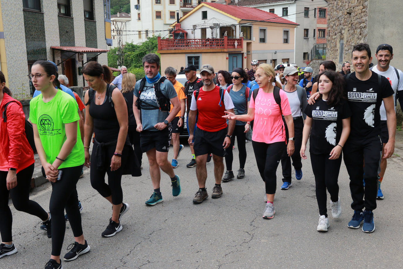
<svg viewBox="0 0 403 269">
<path fill-rule="evenodd" d="M 232 153 L 232 147 L 235 144 L 235 137 L 237 138 L 238 151 L 239 151 L 239 168 L 243 169 L 246 162 L 246 144 L 245 144 L 245 125 L 235 125 L 235 129 L 231 137 L 231 145 L 225 149 L 225 165 L 228 171 L 232 170 L 232 161 L 234 155 Z"/>
</svg>

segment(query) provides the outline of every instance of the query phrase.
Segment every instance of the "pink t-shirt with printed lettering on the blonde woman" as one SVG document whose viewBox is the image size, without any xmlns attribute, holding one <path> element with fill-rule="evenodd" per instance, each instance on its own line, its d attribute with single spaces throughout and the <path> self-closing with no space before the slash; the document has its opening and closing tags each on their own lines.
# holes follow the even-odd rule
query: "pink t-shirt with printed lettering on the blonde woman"
<svg viewBox="0 0 403 269">
<path fill-rule="evenodd" d="M 280 98 L 283 115 L 291 115 L 287 94 L 283 90 L 280 90 Z M 265 93 L 260 88 L 256 96 L 256 103 L 251 98 L 249 107 L 255 108 L 252 132 L 253 141 L 264 142 L 266 144 L 285 142 L 285 127 L 280 107 L 274 100 L 273 93 Z"/>
</svg>

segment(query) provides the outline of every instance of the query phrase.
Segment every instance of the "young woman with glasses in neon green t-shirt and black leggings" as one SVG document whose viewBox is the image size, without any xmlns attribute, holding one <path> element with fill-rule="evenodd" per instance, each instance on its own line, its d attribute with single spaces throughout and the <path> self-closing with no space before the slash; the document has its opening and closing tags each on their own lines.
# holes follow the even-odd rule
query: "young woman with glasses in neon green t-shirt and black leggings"
<svg viewBox="0 0 403 269">
<path fill-rule="evenodd" d="M 77 207 L 76 184 L 84 163 L 84 148 L 77 127 L 79 115 L 77 102 L 60 88 L 58 73 L 48 61 L 38 60 L 31 67 L 31 79 L 36 90 L 41 91 L 33 98 L 29 107 L 35 146 L 46 178 L 52 184 L 50 214 L 52 217 L 52 255 L 45 268 L 61 267 L 62 249 L 66 223 L 64 209 L 69 215 L 75 242 L 64 256 L 72 261 L 90 250 L 84 239 L 81 215 Z"/>
</svg>

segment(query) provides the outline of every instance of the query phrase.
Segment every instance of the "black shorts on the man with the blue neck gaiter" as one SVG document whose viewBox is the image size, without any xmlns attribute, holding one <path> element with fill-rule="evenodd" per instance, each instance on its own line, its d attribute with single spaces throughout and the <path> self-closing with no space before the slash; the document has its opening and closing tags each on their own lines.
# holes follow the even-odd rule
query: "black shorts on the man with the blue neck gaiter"
<svg viewBox="0 0 403 269">
<path fill-rule="evenodd" d="M 161 131 L 142 131 L 140 133 L 140 147 L 142 152 L 147 152 L 153 148 L 159 152 L 168 152 L 172 138 L 171 126 Z"/>
</svg>

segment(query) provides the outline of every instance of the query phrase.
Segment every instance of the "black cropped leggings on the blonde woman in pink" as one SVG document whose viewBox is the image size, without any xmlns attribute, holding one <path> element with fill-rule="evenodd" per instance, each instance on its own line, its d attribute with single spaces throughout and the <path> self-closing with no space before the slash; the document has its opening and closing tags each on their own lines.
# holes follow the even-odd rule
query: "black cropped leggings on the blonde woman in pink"
<svg viewBox="0 0 403 269">
<path fill-rule="evenodd" d="M 266 194 L 275 194 L 276 170 L 280 162 L 281 154 L 285 148 L 285 142 L 266 144 L 252 141 L 252 146 L 260 176 L 266 183 Z"/>
</svg>

